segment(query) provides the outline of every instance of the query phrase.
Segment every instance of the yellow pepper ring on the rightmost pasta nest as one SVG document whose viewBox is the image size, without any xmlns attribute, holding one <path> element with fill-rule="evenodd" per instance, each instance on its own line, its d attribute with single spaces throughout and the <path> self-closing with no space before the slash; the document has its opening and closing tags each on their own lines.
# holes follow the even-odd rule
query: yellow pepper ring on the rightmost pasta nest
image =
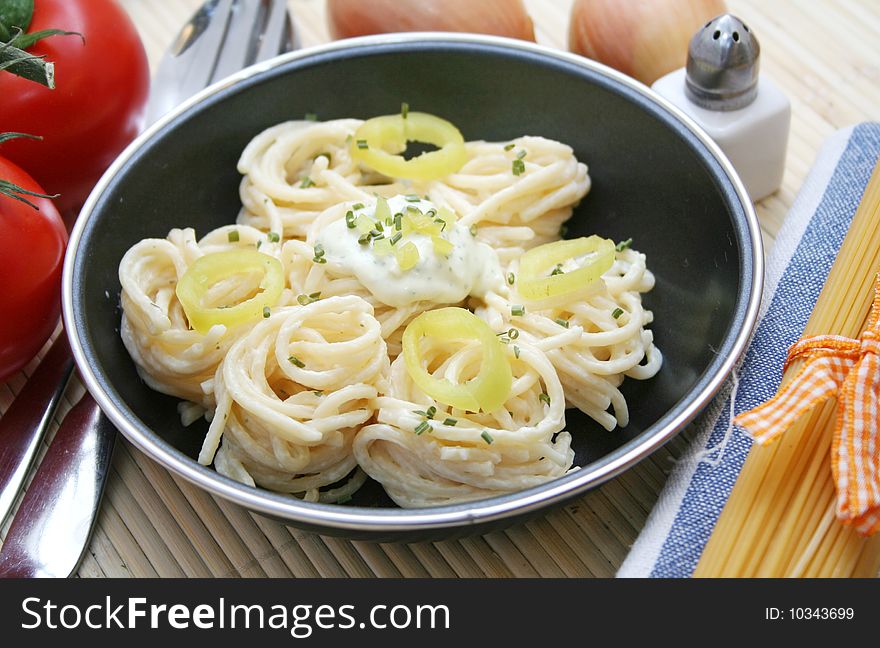
<svg viewBox="0 0 880 648">
<path fill-rule="evenodd" d="M 550 275 L 558 264 L 590 254 L 577 270 Z M 516 290 L 531 302 L 566 297 L 590 287 L 614 263 L 614 241 L 599 236 L 555 241 L 520 257 Z"/>
</svg>

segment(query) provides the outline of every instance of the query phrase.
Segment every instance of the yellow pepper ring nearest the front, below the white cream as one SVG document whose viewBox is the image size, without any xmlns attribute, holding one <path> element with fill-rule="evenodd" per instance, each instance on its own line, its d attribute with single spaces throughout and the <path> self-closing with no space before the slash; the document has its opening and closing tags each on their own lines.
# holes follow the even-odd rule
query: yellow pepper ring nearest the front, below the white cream
<svg viewBox="0 0 880 648">
<path fill-rule="evenodd" d="M 440 340 L 477 340 L 483 351 L 480 371 L 463 384 L 434 378 L 422 367 L 419 342 L 431 336 Z M 452 407 L 477 412 L 494 412 L 510 395 L 513 373 L 504 345 L 489 325 L 464 308 L 448 307 L 425 311 L 403 332 L 403 358 L 410 377 L 434 400 Z"/>
</svg>

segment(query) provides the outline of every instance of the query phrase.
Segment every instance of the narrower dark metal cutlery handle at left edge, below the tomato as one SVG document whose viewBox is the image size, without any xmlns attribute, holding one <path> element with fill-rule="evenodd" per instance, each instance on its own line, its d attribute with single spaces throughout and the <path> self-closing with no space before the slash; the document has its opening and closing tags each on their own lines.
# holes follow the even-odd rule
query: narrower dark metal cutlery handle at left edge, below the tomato
<svg viewBox="0 0 880 648">
<path fill-rule="evenodd" d="M 62 332 L 0 418 L 0 527 L 24 486 L 72 371 L 70 346 Z"/>
</svg>

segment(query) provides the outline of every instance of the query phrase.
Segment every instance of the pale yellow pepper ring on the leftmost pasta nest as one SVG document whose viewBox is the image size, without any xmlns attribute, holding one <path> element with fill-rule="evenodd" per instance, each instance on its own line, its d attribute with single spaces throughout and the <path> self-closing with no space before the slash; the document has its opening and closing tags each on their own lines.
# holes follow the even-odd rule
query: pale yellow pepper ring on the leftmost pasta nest
<svg viewBox="0 0 880 648">
<path fill-rule="evenodd" d="M 203 305 L 212 285 L 252 271 L 263 273 L 259 293 L 234 306 L 206 308 Z M 264 309 L 278 302 L 283 288 L 284 269 L 278 259 L 256 250 L 231 250 L 196 259 L 177 282 L 175 292 L 190 326 L 204 335 L 216 324 L 235 326 L 263 317 Z"/>
</svg>

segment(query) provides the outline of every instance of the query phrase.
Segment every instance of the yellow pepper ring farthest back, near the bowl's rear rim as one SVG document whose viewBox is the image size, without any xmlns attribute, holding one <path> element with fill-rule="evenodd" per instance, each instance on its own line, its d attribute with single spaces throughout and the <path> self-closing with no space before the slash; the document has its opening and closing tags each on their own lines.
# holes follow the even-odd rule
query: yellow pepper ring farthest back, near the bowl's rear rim
<svg viewBox="0 0 880 648">
<path fill-rule="evenodd" d="M 407 160 L 399 155 L 407 142 L 433 144 L 439 150 Z M 421 112 L 368 119 L 352 138 L 351 156 L 386 176 L 408 180 L 444 178 L 467 162 L 461 132 L 445 119 Z"/>
</svg>

